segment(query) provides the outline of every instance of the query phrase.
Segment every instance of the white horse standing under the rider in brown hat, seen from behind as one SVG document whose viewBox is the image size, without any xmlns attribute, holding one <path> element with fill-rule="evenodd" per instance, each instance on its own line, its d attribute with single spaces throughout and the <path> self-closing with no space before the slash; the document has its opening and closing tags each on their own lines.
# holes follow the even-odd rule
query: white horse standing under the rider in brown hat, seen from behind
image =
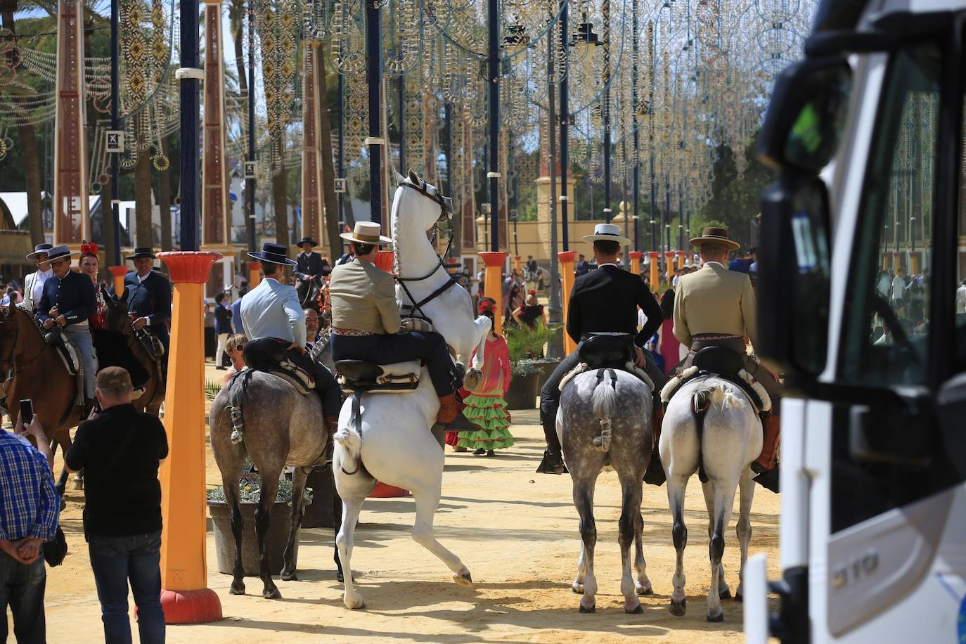
<svg viewBox="0 0 966 644">
<path fill-rule="evenodd" d="M 761 421 L 744 391 L 723 378 L 706 376 L 687 382 L 674 394 L 663 428 L 658 447 L 668 476 L 668 504 L 673 517 L 671 536 L 677 550 L 670 612 L 678 616 L 685 613 L 684 547 L 688 544 L 688 528 L 684 525 L 684 491 L 691 475 L 703 468 L 708 479 L 701 485 L 708 507 L 711 559 L 707 619 L 721 622 L 725 618 L 721 600 L 731 597 L 722 567 L 725 528 L 731 520 L 734 493 L 739 487 L 741 510 L 737 534 L 741 570 L 735 599 L 742 598 L 748 542 L 752 537 L 751 463 L 761 453 Z"/>
</svg>

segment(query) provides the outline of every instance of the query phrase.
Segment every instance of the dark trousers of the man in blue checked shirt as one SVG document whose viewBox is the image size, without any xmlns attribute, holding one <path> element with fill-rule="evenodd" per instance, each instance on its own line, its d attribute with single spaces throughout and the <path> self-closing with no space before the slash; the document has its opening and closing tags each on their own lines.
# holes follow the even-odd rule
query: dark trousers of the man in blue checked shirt
<svg viewBox="0 0 966 644">
<path fill-rule="evenodd" d="M 43 589 L 47 571 L 43 556 L 25 566 L 0 551 L 0 644 L 7 641 L 7 604 L 14 614 L 14 637 L 19 644 L 43 644 Z"/>
</svg>

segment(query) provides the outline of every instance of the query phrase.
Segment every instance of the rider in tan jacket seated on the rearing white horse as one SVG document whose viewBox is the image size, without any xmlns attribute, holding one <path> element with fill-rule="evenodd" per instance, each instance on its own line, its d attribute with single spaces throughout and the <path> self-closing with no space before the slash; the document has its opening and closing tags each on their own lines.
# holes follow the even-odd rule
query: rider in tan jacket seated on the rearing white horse
<svg viewBox="0 0 966 644">
<path fill-rule="evenodd" d="M 343 233 L 355 259 L 332 269 L 328 287 L 332 304 L 332 356 L 341 360 L 364 360 L 393 364 L 423 359 L 429 368 L 436 395 L 440 397 L 437 423 L 448 425 L 460 411 L 455 390 L 462 378 L 449 357 L 439 333 L 399 333 L 401 318 L 393 276 L 375 266 L 379 247 L 392 240 L 373 222 L 357 221 L 352 233 Z"/>
</svg>

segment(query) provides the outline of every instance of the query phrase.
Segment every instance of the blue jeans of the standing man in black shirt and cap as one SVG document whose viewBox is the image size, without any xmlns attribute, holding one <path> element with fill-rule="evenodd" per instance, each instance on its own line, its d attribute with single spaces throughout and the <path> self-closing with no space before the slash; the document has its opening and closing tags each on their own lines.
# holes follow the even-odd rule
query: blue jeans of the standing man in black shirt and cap
<svg viewBox="0 0 966 644">
<path fill-rule="evenodd" d="M 137 605 L 141 644 L 164 642 L 161 610 L 161 533 L 129 537 L 90 535 L 91 568 L 98 585 L 107 644 L 128 644 L 128 580 Z"/>
</svg>

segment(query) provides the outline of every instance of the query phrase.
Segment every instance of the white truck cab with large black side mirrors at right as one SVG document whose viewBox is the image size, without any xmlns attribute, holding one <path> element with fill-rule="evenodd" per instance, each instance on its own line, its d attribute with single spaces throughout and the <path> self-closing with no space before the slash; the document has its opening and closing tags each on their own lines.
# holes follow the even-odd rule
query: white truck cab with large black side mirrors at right
<svg viewBox="0 0 966 644">
<path fill-rule="evenodd" d="M 755 644 L 966 642 L 964 41 L 962 0 L 824 0 L 776 82 L 756 349 L 786 376 L 782 577 L 749 561 Z"/>
</svg>

